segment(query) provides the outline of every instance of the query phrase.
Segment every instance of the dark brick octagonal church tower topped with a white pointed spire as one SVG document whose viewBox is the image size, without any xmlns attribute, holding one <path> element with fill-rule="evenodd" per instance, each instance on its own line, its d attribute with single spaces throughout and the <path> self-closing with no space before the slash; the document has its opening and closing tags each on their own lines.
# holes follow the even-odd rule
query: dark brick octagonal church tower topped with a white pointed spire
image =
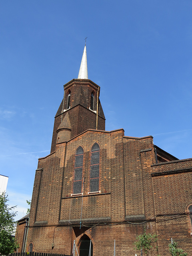
<svg viewBox="0 0 192 256">
<path fill-rule="evenodd" d="M 64 98 L 55 116 L 51 153 L 56 143 L 65 142 L 88 130 L 105 130 L 99 100 L 100 86 L 88 79 L 86 45 L 77 79 L 64 85 Z"/>
</svg>

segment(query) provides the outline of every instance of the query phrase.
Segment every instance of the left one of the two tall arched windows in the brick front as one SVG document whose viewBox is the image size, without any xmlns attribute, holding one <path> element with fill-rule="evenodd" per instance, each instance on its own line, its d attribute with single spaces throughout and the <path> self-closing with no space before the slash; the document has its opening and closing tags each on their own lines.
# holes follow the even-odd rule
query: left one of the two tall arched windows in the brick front
<svg viewBox="0 0 192 256">
<path fill-rule="evenodd" d="M 73 194 L 80 194 L 82 190 L 83 153 L 83 148 L 79 146 L 75 152 Z"/>
</svg>

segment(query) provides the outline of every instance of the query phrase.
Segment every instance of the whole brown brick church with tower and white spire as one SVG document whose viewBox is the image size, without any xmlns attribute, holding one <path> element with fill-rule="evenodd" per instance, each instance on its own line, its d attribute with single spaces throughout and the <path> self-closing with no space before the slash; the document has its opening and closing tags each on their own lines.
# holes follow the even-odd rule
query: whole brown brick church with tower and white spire
<svg viewBox="0 0 192 256">
<path fill-rule="evenodd" d="M 152 136 L 106 131 L 99 95 L 85 46 L 78 79 L 64 85 L 51 152 L 38 160 L 19 252 L 111 256 L 115 244 L 118 256 L 139 255 L 133 243 L 146 229 L 158 235 L 153 255 L 169 255 L 171 238 L 192 255 L 192 158 L 178 160 Z"/>
</svg>

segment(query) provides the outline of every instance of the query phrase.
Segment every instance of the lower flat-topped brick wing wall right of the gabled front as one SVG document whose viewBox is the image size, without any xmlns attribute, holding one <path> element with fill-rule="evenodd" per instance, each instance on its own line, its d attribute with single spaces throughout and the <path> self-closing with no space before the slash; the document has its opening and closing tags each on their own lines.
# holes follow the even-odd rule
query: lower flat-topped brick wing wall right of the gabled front
<svg viewBox="0 0 192 256">
<path fill-rule="evenodd" d="M 154 164 L 152 185 L 160 253 L 168 253 L 164 245 L 173 238 L 180 248 L 192 255 L 187 215 L 188 205 L 192 204 L 192 159 Z"/>
</svg>

